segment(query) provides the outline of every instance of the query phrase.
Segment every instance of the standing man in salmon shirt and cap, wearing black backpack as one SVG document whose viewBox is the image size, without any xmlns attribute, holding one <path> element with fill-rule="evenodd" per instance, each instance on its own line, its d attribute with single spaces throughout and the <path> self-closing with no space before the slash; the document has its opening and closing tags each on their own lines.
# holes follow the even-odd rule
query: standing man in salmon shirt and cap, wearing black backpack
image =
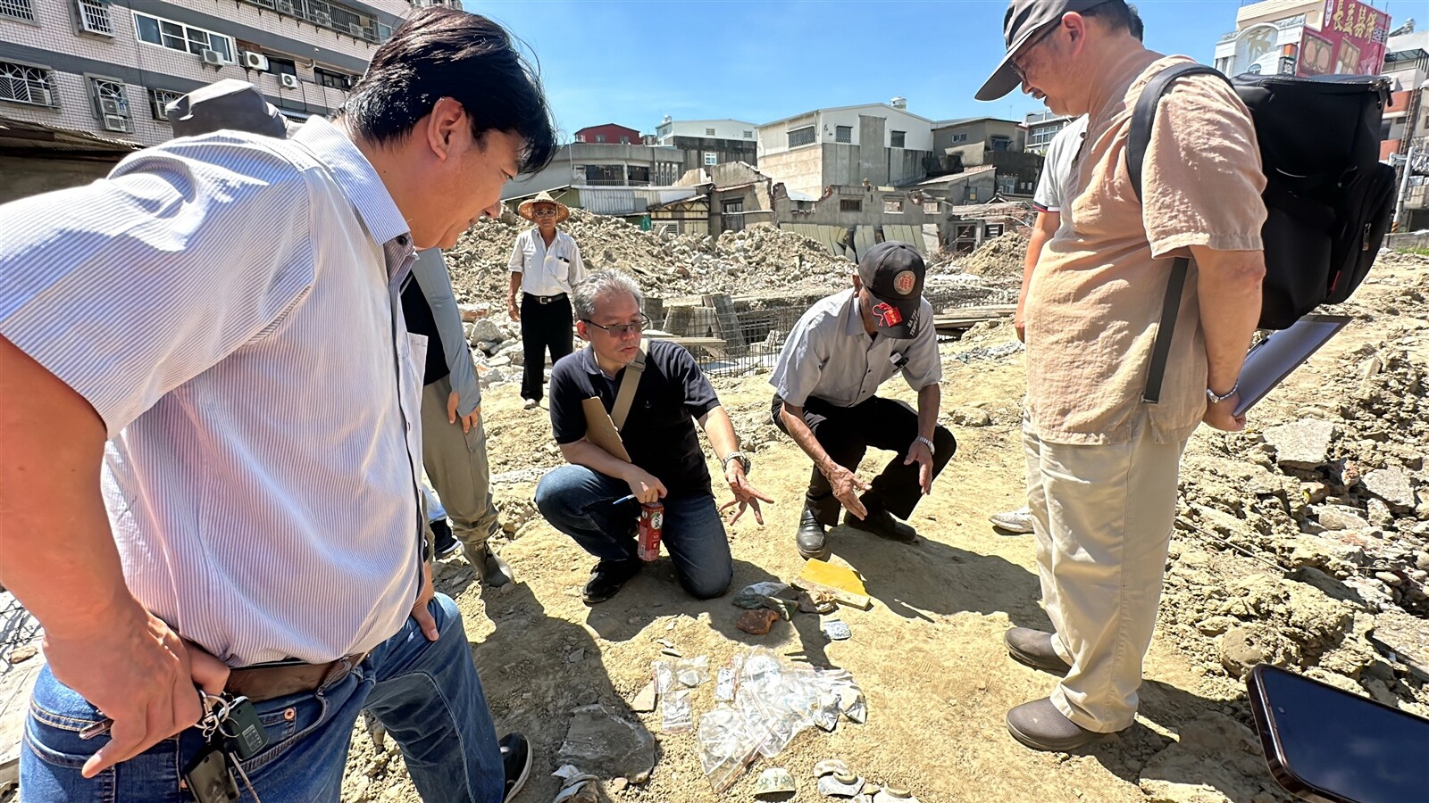
<svg viewBox="0 0 1429 803">
<path fill-rule="evenodd" d="M 1073 199 L 1026 300 L 1027 502 L 1053 633 L 1015 627 L 1013 659 L 1063 676 L 1007 712 L 1015 739 L 1072 750 L 1136 716 L 1176 514 L 1180 454 L 1202 422 L 1228 432 L 1260 314 L 1265 177 L 1250 113 L 1216 76 L 1172 84 L 1142 193 L 1126 167 L 1132 110 L 1160 70 L 1123 0 L 1012 0 L 1007 54 L 977 93 L 1022 90 L 1086 114 Z M 1142 400 L 1175 257 L 1192 260 L 1160 400 Z"/>
</svg>

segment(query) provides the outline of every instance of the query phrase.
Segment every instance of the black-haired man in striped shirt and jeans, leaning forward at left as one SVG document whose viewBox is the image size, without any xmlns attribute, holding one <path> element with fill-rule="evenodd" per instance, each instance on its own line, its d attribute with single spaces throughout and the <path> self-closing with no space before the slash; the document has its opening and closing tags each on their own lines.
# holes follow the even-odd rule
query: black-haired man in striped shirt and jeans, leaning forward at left
<svg viewBox="0 0 1429 803">
<path fill-rule="evenodd" d="M 230 760 L 256 797 L 337 800 L 362 710 L 423 799 L 514 793 L 529 749 L 497 744 L 419 556 L 426 339 L 399 297 L 553 149 L 509 34 L 429 9 L 333 123 L 0 207 L 0 583 L 49 659 L 27 800 L 189 800 L 197 689 L 256 703 L 267 746 Z"/>
</svg>

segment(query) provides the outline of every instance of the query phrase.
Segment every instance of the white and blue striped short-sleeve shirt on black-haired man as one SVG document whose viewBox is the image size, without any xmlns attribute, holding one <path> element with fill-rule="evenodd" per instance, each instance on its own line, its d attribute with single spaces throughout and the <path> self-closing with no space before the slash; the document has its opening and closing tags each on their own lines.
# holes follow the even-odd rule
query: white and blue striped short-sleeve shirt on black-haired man
<svg viewBox="0 0 1429 803">
<path fill-rule="evenodd" d="M 230 666 L 370 649 L 416 599 L 412 254 L 373 167 L 316 119 L 0 206 L 0 334 L 103 419 L 130 590 Z"/>
</svg>

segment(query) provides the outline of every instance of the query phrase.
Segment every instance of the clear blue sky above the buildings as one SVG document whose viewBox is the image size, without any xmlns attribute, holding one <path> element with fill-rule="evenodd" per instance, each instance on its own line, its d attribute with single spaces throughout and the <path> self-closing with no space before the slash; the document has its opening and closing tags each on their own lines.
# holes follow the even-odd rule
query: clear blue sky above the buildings
<svg viewBox="0 0 1429 803">
<path fill-rule="evenodd" d="M 1020 119 L 1022 96 L 977 103 L 1002 57 L 1005 0 L 464 0 L 540 61 L 563 139 L 660 117 L 769 123 L 813 109 L 907 97 L 932 120 Z M 1146 44 L 1212 61 L 1239 0 L 1139 0 Z M 1383 7 L 1383 3 L 1376 3 Z M 1390 13 L 1412 3 L 1390 3 Z M 1399 16 L 1395 14 L 1395 16 Z"/>
</svg>

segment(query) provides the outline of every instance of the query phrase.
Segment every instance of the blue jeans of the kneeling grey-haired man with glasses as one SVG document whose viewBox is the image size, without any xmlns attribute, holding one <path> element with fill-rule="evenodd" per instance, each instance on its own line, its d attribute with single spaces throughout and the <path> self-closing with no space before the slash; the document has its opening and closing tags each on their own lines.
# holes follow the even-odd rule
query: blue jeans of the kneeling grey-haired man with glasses
<svg viewBox="0 0 1429 803">
<path fill-rule="evenodd" d="M 633 504 L 612 503 L 630 494 L 630 486 L 584 466 L 562 466 L 540 479 L 536 507 L 580 549 L 600 560 L 636 557 Z M 660 543 L 670 552 L 680 584 L 706 600 L 729 589 L 735 566 L 725 537 L 725 522 L 709 494 L 666 497 Z"/>
</svg>

